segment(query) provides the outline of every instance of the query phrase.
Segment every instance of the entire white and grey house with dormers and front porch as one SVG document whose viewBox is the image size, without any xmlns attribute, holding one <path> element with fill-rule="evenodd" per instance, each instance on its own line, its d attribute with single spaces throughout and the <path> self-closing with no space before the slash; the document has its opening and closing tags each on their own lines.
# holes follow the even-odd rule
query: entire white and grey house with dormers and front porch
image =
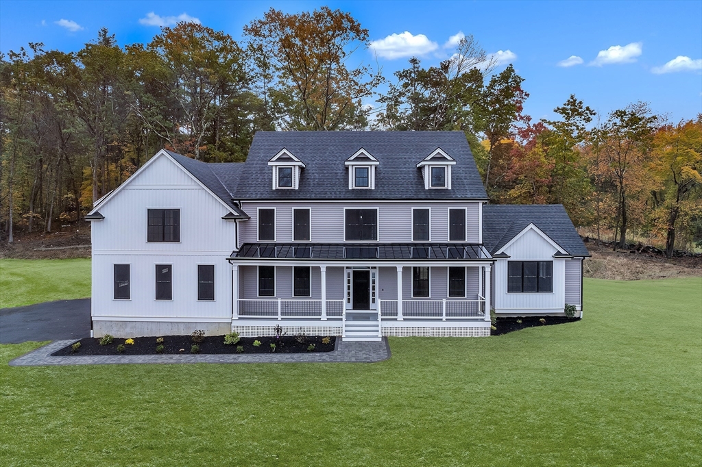
<svg viewBox="0 0 702 467">
<path fill-rule="evenodd" d="M 93 332 L 488 336 L 581 310 L 560 205 L 486 205 L 461 132 L 260 132 L 245 163 L 159 151 L 95 204 Z"/>
</svg>

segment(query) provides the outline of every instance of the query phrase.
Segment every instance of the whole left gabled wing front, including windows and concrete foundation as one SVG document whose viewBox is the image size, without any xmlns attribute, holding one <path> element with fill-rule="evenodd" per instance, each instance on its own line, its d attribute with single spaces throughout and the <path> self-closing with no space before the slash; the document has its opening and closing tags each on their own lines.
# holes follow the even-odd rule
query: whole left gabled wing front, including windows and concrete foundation
<svg viewBox="0 0 702 467">
<path fill-rule="evenodd" d="M 93 210 L 95 336 L 223 334 L 237 222 L 164 151 Z M 99 214 L 98 214 L 99 213 Z"/>
</svg>

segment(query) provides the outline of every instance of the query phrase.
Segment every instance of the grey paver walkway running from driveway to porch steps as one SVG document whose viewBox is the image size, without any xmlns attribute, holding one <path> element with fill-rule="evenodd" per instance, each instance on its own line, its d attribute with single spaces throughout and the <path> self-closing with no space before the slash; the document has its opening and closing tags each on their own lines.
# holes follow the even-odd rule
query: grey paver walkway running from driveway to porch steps
<svg viewBox="0 0 702 467">
<path fill-rule="evenodd" d="M 390 358 L 388 338 L 380 342 L 348 342 L 336 339 L 336 348 L 319 353 L 249 353 L 228 355 L 116 355 L 52 357 L 77 339 L 54 341 L 10 361 L 13 367 L 43 365 L 107 365 L 120 363 L 374 363 Z"/>
</svg>

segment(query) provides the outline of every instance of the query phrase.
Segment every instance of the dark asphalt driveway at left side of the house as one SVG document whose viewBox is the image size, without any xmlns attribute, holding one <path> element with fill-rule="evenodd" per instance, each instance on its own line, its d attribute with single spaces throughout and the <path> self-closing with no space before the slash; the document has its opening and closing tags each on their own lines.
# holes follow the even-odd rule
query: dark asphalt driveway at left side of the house
<svg viewBox="0 0 702 467">
<path fill-rule="evenodd" d="M 0 344 L 90 337 L 90 299 L 0 309 Z"/>
</svg>

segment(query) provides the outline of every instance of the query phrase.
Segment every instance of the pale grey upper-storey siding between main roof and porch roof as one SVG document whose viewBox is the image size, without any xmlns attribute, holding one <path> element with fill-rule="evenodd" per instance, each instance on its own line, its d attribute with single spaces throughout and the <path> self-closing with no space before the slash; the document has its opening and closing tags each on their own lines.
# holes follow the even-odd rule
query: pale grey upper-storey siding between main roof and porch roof
<svg viewBox="0 0 702 467">
<path fill-rule="evenodd" d="M 479 218 L 482 203 L 441 203 L 441 202 L 388 202 L 388 203 L 331 203 L 324 201 L 296 201 L 277 203 L 274 201 L 244 201 L 242 209 L 251 219 L 241 222 L 241 243 L 257 243 L 258 208 L 275 208 L 276 241 L 293 241 L 293 208 L 310 208 L 312 243 L 343 243 L 344 208 L 378 208 L 378 243 L 411 243 L 412 208 L 430 208 L 432 243 L 449 240 L 449 208 L 466 210 L 466 243 L 478 243 Z"/>
</svg>

